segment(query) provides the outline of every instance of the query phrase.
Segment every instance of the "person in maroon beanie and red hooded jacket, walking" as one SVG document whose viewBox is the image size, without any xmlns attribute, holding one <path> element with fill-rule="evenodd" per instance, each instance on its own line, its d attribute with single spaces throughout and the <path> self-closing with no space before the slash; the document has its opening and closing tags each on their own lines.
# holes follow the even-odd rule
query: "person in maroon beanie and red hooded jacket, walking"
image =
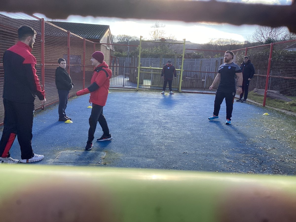
<svg viewBox="0 0 296 222">
<path fill-rule="evenodd" d="M 91 77 L 91 85 L 86 89 L 76 92 L 77 96 L 90 93 L 89 103 L 92 103 L 86 150 L 90 150 L 93 147 L 92 141 L 94 140 L 94 133 L 98 122 L 102 127 L 103 135 L 97 139 L 97 141 L 112 140 L 106 118 L 103 114 L 103 107 L 106 105 L 110 86 L 109 80 L 112 77 L 112 71 L 108 68 L 107 63 L 104 62 L 104 54 L 102 52 L 94 52 L 91 57 L 91 65 L 95 67 Z"/>
</svg>

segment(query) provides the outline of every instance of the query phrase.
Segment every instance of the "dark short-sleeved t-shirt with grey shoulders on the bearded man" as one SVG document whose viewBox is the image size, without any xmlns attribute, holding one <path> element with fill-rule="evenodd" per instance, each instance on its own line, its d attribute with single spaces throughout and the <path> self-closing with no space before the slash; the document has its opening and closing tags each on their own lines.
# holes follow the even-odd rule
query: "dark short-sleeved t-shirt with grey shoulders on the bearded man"
<svg viewBox="0 0 296 222">
<path fill-rule="evenodd" d="M 220 92 L 235 92 L 236 73 L 241 73 L 240 67 L 231 62 L 230 64 L 222 64 L 219 67 L 218 73 L 221 75 L 220 84 L 217 91 Z"/>
</svg>

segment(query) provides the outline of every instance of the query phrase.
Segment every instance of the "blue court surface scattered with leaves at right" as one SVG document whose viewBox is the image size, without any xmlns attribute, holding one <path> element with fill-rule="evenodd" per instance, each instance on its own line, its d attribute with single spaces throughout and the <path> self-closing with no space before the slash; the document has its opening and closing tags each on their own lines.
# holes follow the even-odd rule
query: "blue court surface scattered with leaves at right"
<svg viewBox="0 0 296 222">
<path fill-rule="evenodd" d="M 224 101 L 219 120 L 207 119 L 213 115 L 212 94 L 110 92 L 103 113 L 112 141 L 96 141 L 102 135 L 98 124 L 93 149 L 84 150 L 89 95 L 76 96 L 66 110 L 73 123 L 57 121 L 58 104 L 36 112 L 32 146 L 45 157 L 28 164 L 295 175 L 296 117 L 234 102 L 232 124 L 226 125 Z M 11 156 L 20 158 L 17 139 Z"/>
</svg>

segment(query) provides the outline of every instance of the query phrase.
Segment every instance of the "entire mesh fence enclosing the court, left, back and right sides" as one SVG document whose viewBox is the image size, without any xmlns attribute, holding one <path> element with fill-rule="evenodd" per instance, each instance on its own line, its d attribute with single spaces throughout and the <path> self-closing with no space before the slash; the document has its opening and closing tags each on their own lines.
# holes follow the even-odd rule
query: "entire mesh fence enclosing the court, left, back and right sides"
<svg viewBox="0 0 296 222">
<path fill-rule="evenodd" d="M 37 59 L 37 75 L 46 92 L 47 105 L 59 100 L 55 86 L 58 58 L 64 58 L 69 65 L 66 69 L 75 84 L 70 96 L 90 85 L 93 73 L 90 59 L 94 51 L 104 53 L 105 61 L 112 70 L 110 87 L 114 88 L 161 89 L 161 69 L 168 60 L 172 60 L 178 69 L 177 78 L 173 80 L 173 90 L 180 90 L 178 86 L 181 81 L 183 92 L 215 93 L 209 87 L 223 63 L 224 51 L 185 49 L 182 61 L 183 43 L 142 41 L 139 70 L 138 45 L 94 43 L 24 13 L 0 12 L 0 24 L 0 123 L 3 123 L 4 118 L 2 57 L 17 42 L 17 29 L 22 25 L 28 25 L 37 32 L 32 54 Z M 255 67 L 248 101 L 296 115 L 296 40 L 232 51 L 235 63 L 240 65 L 247 55 Z M 38 99 L 35 100 L 35 108 L 41 108 Z"/>
</svg>

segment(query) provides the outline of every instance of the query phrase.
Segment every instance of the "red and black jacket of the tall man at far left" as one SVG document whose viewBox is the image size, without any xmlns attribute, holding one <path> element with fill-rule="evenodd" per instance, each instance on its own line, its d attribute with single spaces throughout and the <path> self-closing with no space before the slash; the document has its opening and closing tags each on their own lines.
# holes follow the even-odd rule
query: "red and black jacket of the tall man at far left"
<svg viewBox="0 0 296 222">
<path fill-rule="evenodd" d="M 19 41 L 7 49 L 3 56 L 4 99 L 20 103 L 32 103 L 36 96 L 40 100 L 45 99 L 35 65 L 36 58 L 27 44 Z"/>
</svg>

